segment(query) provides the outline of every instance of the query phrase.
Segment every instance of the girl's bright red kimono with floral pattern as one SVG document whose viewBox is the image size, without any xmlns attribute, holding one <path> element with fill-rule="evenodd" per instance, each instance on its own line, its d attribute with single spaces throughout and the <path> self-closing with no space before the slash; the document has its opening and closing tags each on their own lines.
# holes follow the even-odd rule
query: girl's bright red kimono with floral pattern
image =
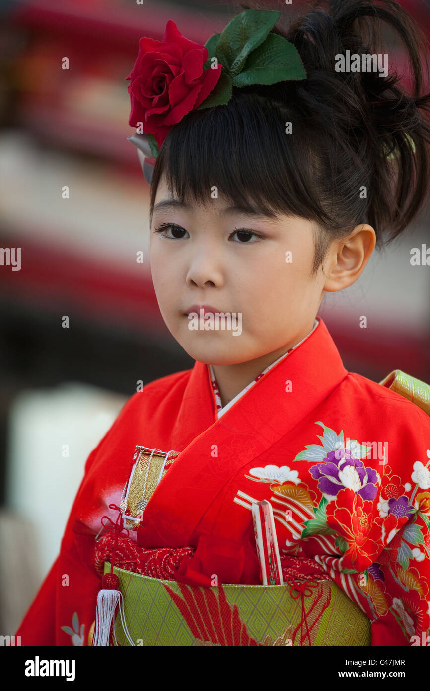
<svg viewBox="0 0 430 691">
<path fill-rule="evenodd" d="M 311 557 L 371 620 L 372 645 L 429 631 L 430 418 L 347 372 L 322 319 L 217 418 L 208 366 L 153 381 L 90 453 L 59 556 L 23 619 L 22 645 L 88 645 L 101 587 L 95 537 L 135 448 L 178 451 L 133 540 L 190 546 L 190 585 L 261 583 L 251 504 L 273 507 L 281 562 Z M 430 641 L 430 638 L 428 639 Z"/>
</svg>

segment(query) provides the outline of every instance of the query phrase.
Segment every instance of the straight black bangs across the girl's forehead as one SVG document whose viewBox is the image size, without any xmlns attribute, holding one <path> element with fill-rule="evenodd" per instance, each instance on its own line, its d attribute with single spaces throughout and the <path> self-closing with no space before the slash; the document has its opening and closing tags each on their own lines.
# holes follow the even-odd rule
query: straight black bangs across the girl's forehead
<svg viewBox="0 0 430 691">
<path fill-rule="evenodd" d="M 151 218 L 164 174 L 170 193 L 181 202 L 204 205 L 216 187 L 239 209 L 336 225 L 320 203 L 315 174 L 321 162 L 306 117 L 293 117 L 283 104 L 241 92 L 233 93 L 226 106 L 191 111 L 170 130 L 153 173 Z M 289 122 L 294 134 L 286 132 Z"/>
</svg>

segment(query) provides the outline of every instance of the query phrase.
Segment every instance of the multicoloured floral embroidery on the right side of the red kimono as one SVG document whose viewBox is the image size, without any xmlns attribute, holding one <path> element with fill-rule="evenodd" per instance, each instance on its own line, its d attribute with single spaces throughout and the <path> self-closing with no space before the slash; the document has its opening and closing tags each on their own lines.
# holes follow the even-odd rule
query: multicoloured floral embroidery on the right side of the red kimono
<svg viewBox="0 0 430 691">
<path fill-rule="evenodd" d="M 371 448 L 315 424 L 321 444 L 306 446 L 290 465 L 250 468 L 245 477 L 270 483 L 282 553 L 306 554 L 313 540 L 313 558 L 371 621 L 391 612 L 412 640 L 430 621 L 430 451 L 427 460 L 405 462 L 402 477 L 385 460 L 380 474 L 367 464 Z M 312 464 L 306 480 L 293 465 L 303 461 Z"/>
</svg>

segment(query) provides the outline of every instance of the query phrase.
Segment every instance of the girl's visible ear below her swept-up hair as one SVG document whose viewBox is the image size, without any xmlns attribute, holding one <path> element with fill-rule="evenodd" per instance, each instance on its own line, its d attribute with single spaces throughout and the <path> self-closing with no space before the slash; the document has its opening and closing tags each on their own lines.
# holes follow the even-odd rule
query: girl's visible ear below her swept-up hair
<svg viewBox="0 0 430 691">
<path fill-rule="evenodd" d="M 367 223 L 356 225 L 342 240 L 334 240 L 324 267 L 324 291 L 336 292 L 355 283 L 364 271 L 375 244 L 375 231 Z"/>
</svg>

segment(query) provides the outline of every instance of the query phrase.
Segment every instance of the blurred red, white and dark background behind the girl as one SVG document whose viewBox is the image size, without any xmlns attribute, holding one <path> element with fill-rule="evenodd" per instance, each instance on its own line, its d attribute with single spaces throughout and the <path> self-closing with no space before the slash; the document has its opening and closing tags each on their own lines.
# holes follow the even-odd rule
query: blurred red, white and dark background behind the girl
<svg viewBox="0 0 430 691">
<path fill-rule="evenodd" d="M 401 4 L 429 30 L 424 0 Z M 137 381 L 193 366 L 150 281 L 149 188 L 126 140 L 125 77 L 139 38 L 162 39 L 168 19 L 204 44 L 239 11 L 222 0 L 0 0 L 0 245 L 22 258 L 19 271 L 0 266 L 0 634 L 14 634 L 55 560 L 86 458 Z M 430 267 L 410 264 L 422 244 L 429 209 L 324 299 L 350 371 L 430 383 Z"/>
</svg>

